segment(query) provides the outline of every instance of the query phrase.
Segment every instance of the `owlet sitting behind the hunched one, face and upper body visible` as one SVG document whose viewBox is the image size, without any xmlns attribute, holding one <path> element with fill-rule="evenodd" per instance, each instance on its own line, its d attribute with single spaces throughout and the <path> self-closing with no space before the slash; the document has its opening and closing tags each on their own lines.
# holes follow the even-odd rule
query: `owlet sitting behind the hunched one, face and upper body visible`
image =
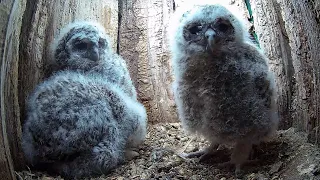
<svg viewBox="0 0 320 180">
<path fill-rule="evenodd" d="M 99 73 L 133 98 L 136 90 L 125 61 L 113 52 L 105 29 L 96 22 L 79 21 L 64 27 L 51 44 L 47 76 L 61 70 Z"/>
</svg>

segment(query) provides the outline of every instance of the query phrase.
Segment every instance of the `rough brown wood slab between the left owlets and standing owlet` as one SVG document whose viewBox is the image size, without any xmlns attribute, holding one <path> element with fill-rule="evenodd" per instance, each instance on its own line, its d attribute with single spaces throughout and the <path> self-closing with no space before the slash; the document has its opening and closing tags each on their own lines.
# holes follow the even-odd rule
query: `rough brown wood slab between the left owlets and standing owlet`
<svg viewBox="0 0 320 180">
<path fill-rule="evenodd" d="M 122 1 L 119 53 L 128 64 L 151 123 L 176 121 L 166 27 L 171 0 Z"/>
</svg>

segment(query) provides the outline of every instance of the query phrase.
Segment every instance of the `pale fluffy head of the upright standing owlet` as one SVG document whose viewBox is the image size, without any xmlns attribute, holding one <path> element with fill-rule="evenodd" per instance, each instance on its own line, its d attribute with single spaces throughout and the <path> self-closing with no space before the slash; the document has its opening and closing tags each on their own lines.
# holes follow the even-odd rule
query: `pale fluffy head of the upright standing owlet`
<svg viewBox="0 0 320 180">
<path fill-rule="evenodd" d="M 176 49 L 212 51 L 223 44 L 241 42 L 245 38 L 242 22 L 219 4 L 195 5 L 183 9 L 177 18 L 179 25 L 171 32 L 174 37 L 170 40 L 171 46 Z"/>
</svg>

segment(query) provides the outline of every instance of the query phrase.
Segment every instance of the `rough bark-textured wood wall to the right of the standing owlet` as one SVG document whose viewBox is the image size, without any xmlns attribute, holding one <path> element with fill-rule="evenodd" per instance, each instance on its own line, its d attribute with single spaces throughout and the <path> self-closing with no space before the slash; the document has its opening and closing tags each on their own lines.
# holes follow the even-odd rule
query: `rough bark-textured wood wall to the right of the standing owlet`
<svg viewBox="0 0 320 180">
<path fill-rule="evenodd" d="M 320 122 L 319 2 L 253 3 L 260 43 L 276 73 L 282 128 L 292 125 L 311 133 L 316 141 Z"/>
</svg>

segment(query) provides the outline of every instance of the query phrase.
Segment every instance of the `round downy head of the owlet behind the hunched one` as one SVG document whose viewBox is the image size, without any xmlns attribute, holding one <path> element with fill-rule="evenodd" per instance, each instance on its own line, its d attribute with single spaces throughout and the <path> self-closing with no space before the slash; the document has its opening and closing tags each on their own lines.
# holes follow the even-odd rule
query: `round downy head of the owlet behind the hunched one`
<svg viewBox="0 0 320 180">
<path fill-rule="evenodd" d="M 52 58 L 59 70 L 90 70 L 111 49 L 104 28 L 95 22 L 75 22 L 61 30 L 52 44 Z"/>
</svg>

